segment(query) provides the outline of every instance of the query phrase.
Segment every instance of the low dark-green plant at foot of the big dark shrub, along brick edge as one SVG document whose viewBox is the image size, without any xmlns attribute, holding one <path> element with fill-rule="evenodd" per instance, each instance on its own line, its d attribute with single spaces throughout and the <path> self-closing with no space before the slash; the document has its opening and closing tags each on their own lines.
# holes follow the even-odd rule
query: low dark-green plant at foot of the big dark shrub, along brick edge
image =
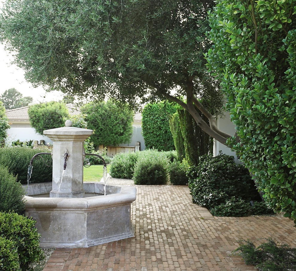
<svg viewBox="0 0 296 271">
<path fill-rule="evenodd" d="M 248 200 L 238 199 L 232 197 L 225 203 L 221 203 L 218 206 L 213 207 L 210 212 L 214 216 L 221 217 L 245 217 L 249 215 L 260 215 L 260 214 L 272 214 L 272 210 L 268 209 L 266 203 L 254 202 L 252 206 Z"/>
</svg>

